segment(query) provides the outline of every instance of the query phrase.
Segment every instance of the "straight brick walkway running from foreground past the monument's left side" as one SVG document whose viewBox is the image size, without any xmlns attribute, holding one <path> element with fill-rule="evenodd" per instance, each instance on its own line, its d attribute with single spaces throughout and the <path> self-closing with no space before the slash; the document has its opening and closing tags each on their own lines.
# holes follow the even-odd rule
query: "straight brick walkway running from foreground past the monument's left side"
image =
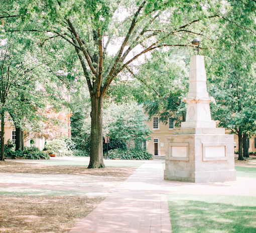
<svg viewBox="0 0 256 233">
<path fill-rule="evenodd" d="M 162 161 L 148 161 L 69 233 L 171 233 Z"/>
</svg>

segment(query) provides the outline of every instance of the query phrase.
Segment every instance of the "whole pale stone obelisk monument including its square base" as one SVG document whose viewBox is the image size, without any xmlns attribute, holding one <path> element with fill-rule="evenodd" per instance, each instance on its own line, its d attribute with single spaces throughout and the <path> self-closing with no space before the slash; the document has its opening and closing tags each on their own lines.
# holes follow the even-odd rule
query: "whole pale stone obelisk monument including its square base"
<svg viewBox="0 0 256 233">
<path fill-rule="evenodd" d="M 181 128 L 167 135 L 167 180 L 188 182 L 223 182 L 236 180 L 234 169 L 234 138 L 216 128 L 211 120 L 211 98 L 206 88 L 204 57 L 190 59 L 189 93 L 186 121 Z"/>
</svg>

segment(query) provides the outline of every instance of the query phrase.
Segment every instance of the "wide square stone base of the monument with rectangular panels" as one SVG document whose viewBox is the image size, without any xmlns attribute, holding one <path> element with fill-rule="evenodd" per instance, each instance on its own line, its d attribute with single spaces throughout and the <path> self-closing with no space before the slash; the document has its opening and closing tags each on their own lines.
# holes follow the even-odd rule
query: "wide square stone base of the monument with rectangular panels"
<svg viewBox="0 0 256 233">
<path fill-rule="evenodd" d="M 194 132 L 201 134 L 190 134 Z M 222 128 L 181 128 L 175 130 L 176 135 L 167 135 L 164 178 L 186 182 L 236 180 L 234 138 L 223 132 Z"/>
</svg>

